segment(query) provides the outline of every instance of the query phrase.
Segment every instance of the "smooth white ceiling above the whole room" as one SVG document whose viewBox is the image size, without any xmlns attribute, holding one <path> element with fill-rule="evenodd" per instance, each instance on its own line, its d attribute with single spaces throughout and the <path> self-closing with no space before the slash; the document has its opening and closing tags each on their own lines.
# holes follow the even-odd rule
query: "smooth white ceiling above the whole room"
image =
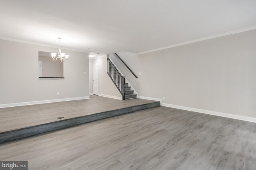
<svg viewBox="0 0 256 170">
<path fill-rule="evenodd" d="M 139 53 L 256 25 L 256 0 L 0 0 L 0 37 Z M 89 50 L 91 48 L 93 50 Z"/>
</svg>

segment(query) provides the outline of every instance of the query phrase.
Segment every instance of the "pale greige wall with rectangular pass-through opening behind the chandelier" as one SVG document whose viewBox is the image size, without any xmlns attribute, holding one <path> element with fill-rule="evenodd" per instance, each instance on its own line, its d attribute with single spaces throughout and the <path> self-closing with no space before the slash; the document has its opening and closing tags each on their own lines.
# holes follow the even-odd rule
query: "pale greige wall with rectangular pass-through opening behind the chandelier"
<svg viewBox="0 0 256 170">
<path fill-rule="evenodd" d="M 65 79 L 39 80 L 38 51 L 58 49 L 0 40 L 0 104 L 89 96 L 88 75 L 83 75 L 88 53 L 62 50 L 70 55 L 63 65 Z"/>
</svg>

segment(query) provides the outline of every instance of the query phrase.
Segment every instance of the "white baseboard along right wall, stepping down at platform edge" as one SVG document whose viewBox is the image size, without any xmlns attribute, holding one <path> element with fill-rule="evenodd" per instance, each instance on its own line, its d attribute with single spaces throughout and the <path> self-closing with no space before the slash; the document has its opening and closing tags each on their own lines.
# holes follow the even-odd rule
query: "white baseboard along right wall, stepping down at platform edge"
<svg viewBox="0 0 256 170">
<path fill-rule="evenodd" d="M 146 99 L 146 100 L 160 101 L 160 105 L 165 106 L 165 107 L 172 107 L 172 108 L 175 108 L 175 109 L 194 111 L 194 112 L 204 113 L 204 114 L 208 114 L 208 115 L 216 115 L 216 116 L 228 117 L 228 118 L 231 118 L 231 119 L 238 119 L 238 120 L 250 121 L 250 122 L 256 123 L 256 118 L 254 118 L 254 117 L 247 117 L 247 116 L 241 116 L 241 115 L 234 115 L 234 114 L 230 114 L 230 113 L 222 113 L 222 112 L 218 112 L 218 111 L 210 111 L 210 110 L 204 110 L 204 109 L 196 109 L 196 108 L 193 108 L 193 107 L 166 104 L 166 103 L 162 103 L 162 99 L 160 99 L 160 98 L 150 98 L 150 97 L 144 97 L 144 96 L 137 96 L 137 98 Z"/>
</svg>

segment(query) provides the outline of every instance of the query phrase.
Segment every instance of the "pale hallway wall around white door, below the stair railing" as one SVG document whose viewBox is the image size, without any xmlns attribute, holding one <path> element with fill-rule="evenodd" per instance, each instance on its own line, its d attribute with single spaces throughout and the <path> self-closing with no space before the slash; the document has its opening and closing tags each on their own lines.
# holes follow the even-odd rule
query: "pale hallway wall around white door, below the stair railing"
<svg viewBox="0 0 256 170">
<path fill-rule="evenodd" d="M 122 95 L 110 79 L 110 77 L 107 74 L 107 57 L 104 55 L 103 57 L 96 57 L 95 59 L 92 59 L 92 62 L 90 63 L 91 66 L 93 63 L 98 62 L 98 74 L 99 74 L 99 95 L 100 96 L 114 96 L 116 98 L 121 98 Z M 90 71 L 92 73 L 92 69 Z M 90 73 L 90 75 L 92 75 Z M 90 79 L 90 86 L 92 86 L 92 79 Z M 105 92 L 106 90 L 106 92 Z"/>
</svg>

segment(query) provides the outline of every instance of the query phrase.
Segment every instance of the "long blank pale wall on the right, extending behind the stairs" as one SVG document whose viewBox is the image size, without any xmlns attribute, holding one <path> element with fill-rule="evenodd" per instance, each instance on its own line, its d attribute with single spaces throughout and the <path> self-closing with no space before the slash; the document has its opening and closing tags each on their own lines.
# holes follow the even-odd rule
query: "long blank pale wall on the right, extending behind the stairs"
<svg viewBox="0 0 256 170">
<path fill-rule="evenodd" d="M 142 73 L 135 83 L 130 80 L 138 96 L 165 97 L 165 104 L 256 118 L 256 30 L 137 57 L 118 54 L 136 74 Z M 130 76 L 124 66 L 120 70 Z"/>
</svg>

